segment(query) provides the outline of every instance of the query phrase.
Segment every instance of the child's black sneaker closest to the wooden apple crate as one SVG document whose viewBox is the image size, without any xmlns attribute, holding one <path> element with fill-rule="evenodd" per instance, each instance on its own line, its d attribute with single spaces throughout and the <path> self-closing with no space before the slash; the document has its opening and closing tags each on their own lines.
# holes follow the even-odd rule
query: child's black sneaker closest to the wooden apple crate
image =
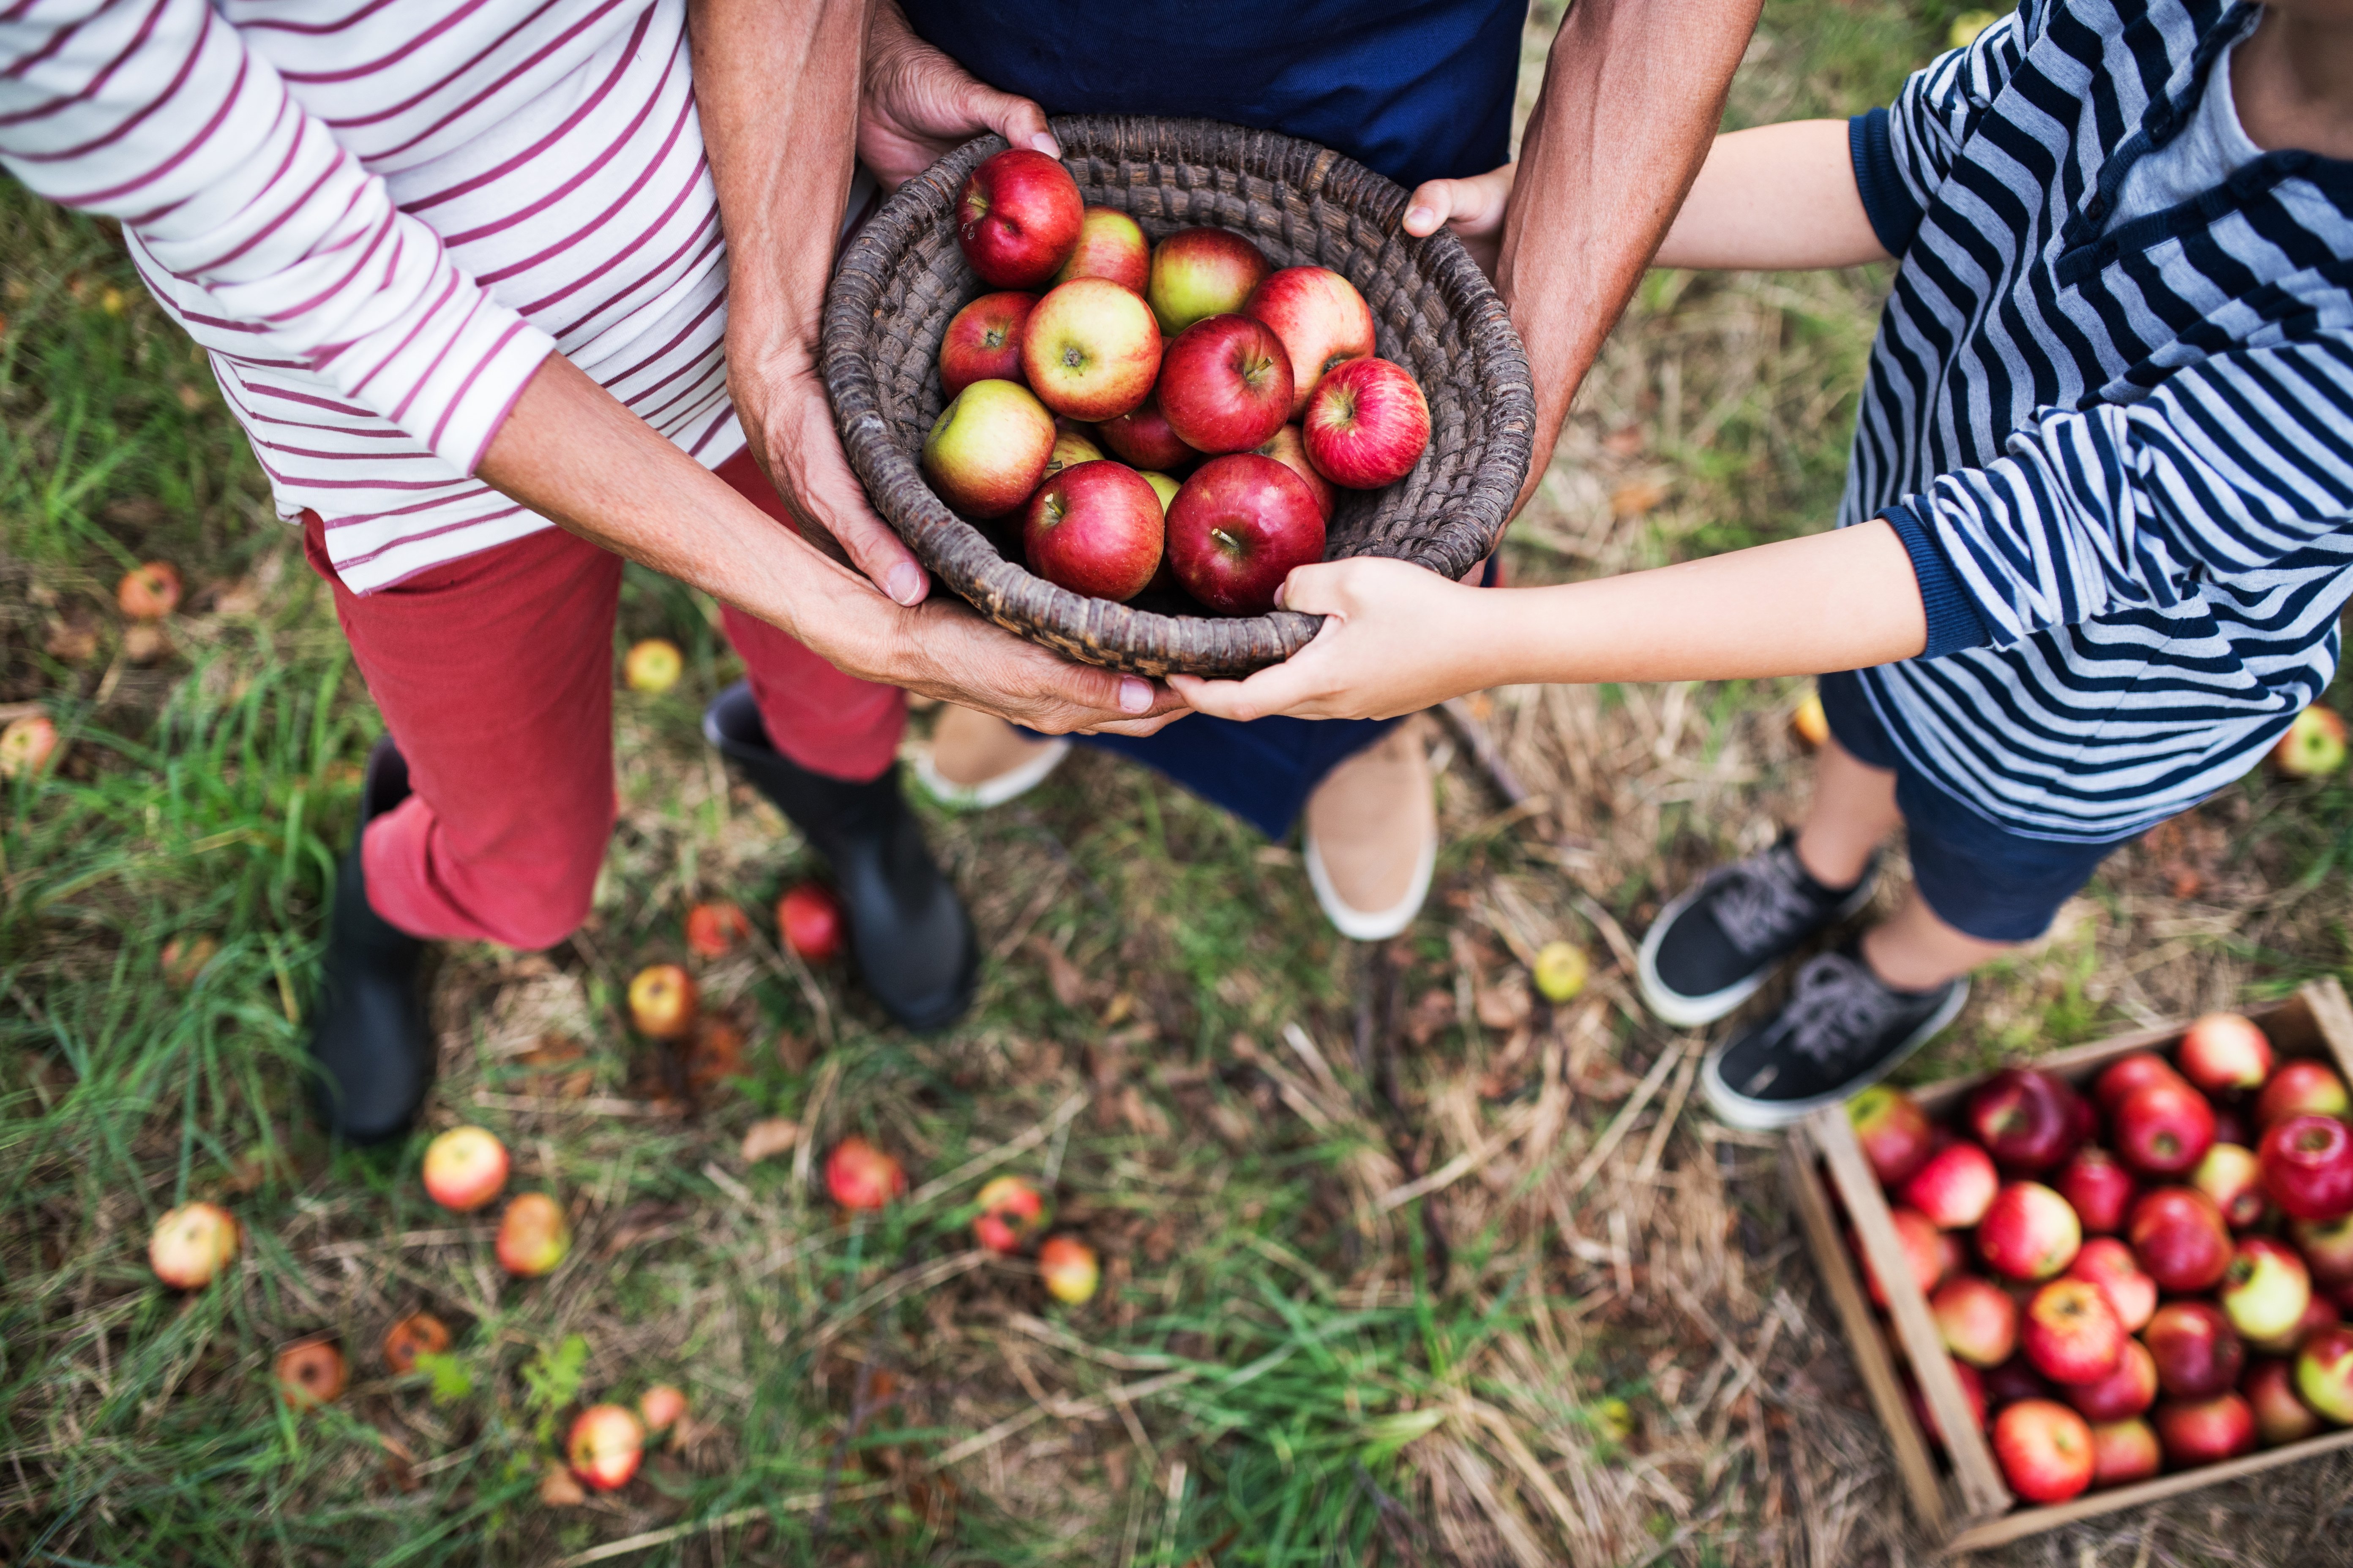
<svg viewBox="0 0 2353 1568">
<path fill-rule="evenodd" d="M 1708 1051 L 1699 1086 L 1732 1126 L 1788 1126 L 1878 1084 L 1967 999 L 1967 978 L 1899 992 L 1852 945 L 1819 952 L 1779 1013 Z"/>
</svg>

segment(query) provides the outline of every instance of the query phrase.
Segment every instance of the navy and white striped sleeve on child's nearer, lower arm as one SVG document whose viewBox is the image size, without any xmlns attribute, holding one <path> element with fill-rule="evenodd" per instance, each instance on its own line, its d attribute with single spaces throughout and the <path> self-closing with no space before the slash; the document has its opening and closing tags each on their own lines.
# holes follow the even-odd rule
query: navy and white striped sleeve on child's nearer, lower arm
<svg viewBox="0 0 2353 1568">
<path fill-rule="evenodd" d="M 2353 564 L 2348 430 L 2348 334 L 2224 353 L 2137 404 L 2038 414 L 1998 461 L 1882 512 L 1920 567 L 1927 656 L 2172 609 L 2209 576 L 2315 550 Z"/>
</svg>

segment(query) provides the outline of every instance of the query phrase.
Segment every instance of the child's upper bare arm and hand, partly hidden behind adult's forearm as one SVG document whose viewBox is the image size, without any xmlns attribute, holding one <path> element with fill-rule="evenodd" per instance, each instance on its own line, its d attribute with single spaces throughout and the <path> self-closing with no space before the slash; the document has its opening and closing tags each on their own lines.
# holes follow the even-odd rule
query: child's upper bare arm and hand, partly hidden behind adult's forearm
<svg viewBox="0 0 2353 1568">
<path fill-rule="evenodd" d="M 1445 223 L 1487 266 L 1515 172 L 1504 165 L 1478 179 L 1424 181 L 1405 209 L 1405 233 L 1428 235 Z M 1854 183 L 1847 122 L 1791 120 L 1715 139 L 1654 261 L 1800 270 L 1885 259 Z"/>
</svg>

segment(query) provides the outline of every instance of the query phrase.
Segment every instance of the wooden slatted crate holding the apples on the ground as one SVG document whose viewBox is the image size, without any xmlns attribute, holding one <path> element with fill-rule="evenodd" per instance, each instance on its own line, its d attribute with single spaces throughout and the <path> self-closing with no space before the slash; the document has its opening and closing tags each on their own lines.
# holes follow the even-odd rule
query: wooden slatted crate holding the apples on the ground
<svg viewBox="0 0 2353 1568">
<path fill-rule="evenodd" d="M 2346 1079 L 2353 1079 L 2353 1004 L 2346 1001 L 2346 992 L 2337 980 L 2306 985 L 2280 1006 L 2252 1011 L 2249 1018 L 2264 1027 L 2282 1058 L 2318 1056 L 2344 1072 Z M 2078 1088 L 2087 1088 L 2089 1079 L 2118 1056 L 2151 1048 L 2169 1051 L 2179 1039 L 2181 1025 L 2141 1030 L 2089 1046 L 2054 1051 L 2033 1065 L 2057 1072 Z M 1913 1098 L 1932 1121 L 1944 1121 L 1960 1112 L 1960 1103 L 1979 1081 L 1984 1081 L 1981 1074 L 1946 1079 L 1915 1088 Z M 1946 1552 L 1998 1547 L 2075 1519 L 2158 1502 L 2160 1497 L 2174 1497 L 2214 1481 L 2228 1481 L 2275 1465 L 2292 1465 L 2332 1448 L 2353 1446 L 2353 1429 L 2325 1432 L 2301 1443 L 2261 1448 L 2221 1465 L 2200 1465 L 2198 1469 L 2162 1474 L 2137 1486 L 2085 1493 L 2052 1507 L 2024 1507 L 2002 1483 L 1991 1441 L 1969 1420 L 1967 1396 L 1953 1375 L 1953 1361 L 1946 1356 L 1944 1340 L 1929 1316 L 1927 1298 L 1913 1284 L 1911 1267 L 1904 1262 L 1904 1246 L 1897 1241 L 1887 1197 L 1880 1192 L 1878 1178 L 1871 1175 L 1871 1161 L 1864 1159 L 1864 1150 L 1854 1140 L 1845 1107 L 1824 1107 L 1793 1126 L 1784 1145 L 1781 1168 L 1798 1208 L 1798 1222 L 1831 1291 L 1831 1305 L 1847 1331 L 1847 1345 L 1854 1349 L 1864 1389 L 1871 1394 L 1871 1403 L 1887 1427 L 1904 1490 L 1911 1495 L 1920 1523 Z M 1937 1425 L 1944 1432 L 1960 1434 L 1946 1450 L 1948 1465 L 1944 1469 L 1937 1465 L 1929 1434 L 1913 1415 L 1887 1338 L 1871 1312 L 1871 1298 L 1864 1293 L 1861 1272 L 1847 1253 L 1838 1215 L 1831 1206 L 1833 1187 L 1840 1204 L 1845 1204 L 1864 1255 L 1871 1258 L 1873 1272 L 1887 1288 L 1889 1328 L 1897 1347 L 1904 1349 L 1911 1363 L 1922 1399 L 1934 1410 Z"/>
</svg>

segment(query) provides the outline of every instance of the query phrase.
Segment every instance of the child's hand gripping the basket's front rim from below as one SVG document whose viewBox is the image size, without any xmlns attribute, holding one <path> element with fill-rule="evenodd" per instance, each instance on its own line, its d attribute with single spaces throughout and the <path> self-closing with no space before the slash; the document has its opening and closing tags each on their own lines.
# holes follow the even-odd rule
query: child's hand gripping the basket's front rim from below
<svg viewBox="0 0 2353 1568">
<path fill-rule="evenodd" d="M 1200 712 L 1226 719 L 1421 712 L 1489 684 L 1475 668 L 1480 604 L 1494 611 L 1499 599 L 1504 595 L 1369 555 L 1297 567 L 1282 583 L 1282 607 L 1325 616 L 1308 646 L 1249 679 L 1172 675 L 1169 686 Z"/>
</svg>

